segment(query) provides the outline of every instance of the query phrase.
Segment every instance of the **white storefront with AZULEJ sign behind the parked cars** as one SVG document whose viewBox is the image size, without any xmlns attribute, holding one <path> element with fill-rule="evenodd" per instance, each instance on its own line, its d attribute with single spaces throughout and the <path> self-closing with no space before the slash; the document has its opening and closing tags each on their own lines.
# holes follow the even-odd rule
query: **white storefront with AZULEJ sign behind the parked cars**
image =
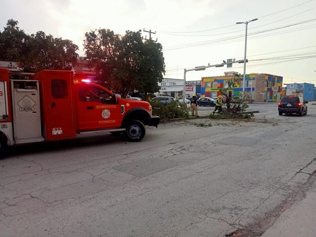
<svg viewBox="0 0 316 237">
<path fill-rule="evenodd" d="M 162 82 L 158 83 L 160 90 L 157 95 L 169 95 L 177 98 L 183 95 L 183 79 L 164 78 Z M 201 81 L 186 81 L 185 82 L 185 96 L 196 94 L 201 95 Z"/>
</svg>

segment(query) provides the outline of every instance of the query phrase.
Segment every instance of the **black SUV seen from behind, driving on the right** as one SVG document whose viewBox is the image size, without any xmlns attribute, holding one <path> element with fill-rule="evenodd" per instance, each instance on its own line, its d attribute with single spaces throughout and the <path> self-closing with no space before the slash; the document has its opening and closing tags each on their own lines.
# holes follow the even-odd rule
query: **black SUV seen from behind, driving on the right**
<svg viewBox="0 0 316 237">
<path fill-rule="evenodd" d="M 278 104 L 279 115 L 297 113 L 300 116 L 307 114 L 307 101 L 302 97 L 287 95 L 281 98 Z"/>
</svg>

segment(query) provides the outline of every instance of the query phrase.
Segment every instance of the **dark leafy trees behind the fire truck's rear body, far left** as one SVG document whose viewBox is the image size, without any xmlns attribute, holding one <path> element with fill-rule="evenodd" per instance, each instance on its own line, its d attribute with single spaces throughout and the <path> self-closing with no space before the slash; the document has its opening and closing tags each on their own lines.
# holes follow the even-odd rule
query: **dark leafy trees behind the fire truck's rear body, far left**
<svg viewBox="0 0 316 237">
<path fill-rule="evenodd" d="M 75 66 L 78 46 L 71 40 L 54 38 L 43 31 L 28 35 L 18 27 L 18 23 L 8 20 L 0 32 L 1 60 L 21 62 L 25 72 L 71 70 Z"/>
</svg>

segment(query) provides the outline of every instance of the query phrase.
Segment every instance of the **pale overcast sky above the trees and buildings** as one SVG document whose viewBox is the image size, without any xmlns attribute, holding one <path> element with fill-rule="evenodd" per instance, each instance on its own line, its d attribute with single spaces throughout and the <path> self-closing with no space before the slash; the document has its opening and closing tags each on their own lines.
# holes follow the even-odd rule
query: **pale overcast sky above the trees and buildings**
<svg viewBox="0 0 316 237">
<path fill-rule="evenodd" d="M 182 79 L 184 68 L 222 63 L 228 58 L 243 59 L 245 24 L 235 23 L 258 18 L 248 25 L 246 73 L 283 76 L 285 83 L 293 80 L 316 84 L 316 58 L 312 58 L 316 57 L 316 0 L 308 1 L 1 0 L 0 27 L 13 18 L 26 33 L 42 30 L 55 37 L 73 40 L 80 47 L 80 55 L 84 54 L 84 33 L 95 28 L 109 28 L 120 34 L 125 30 L 151 29 L 156 31 L 152 35 L 154 40 L 158 38 L 164 48 L 165 77 Z M 307 20 L 311 21 L 258 33 Z M 148 33 L 143 33 L 145 35 L 149 37 Z M 211 41 L 228 40 L 227 37 L 234 36 L 228 42 Z M 306 56 L 311 58 L 297 60 Z M 250 61 L 265 58 L 270 59 Z M 224 71 L 242 74 L 242 66 L 233 64 L 233 68 L 225 66 L 187 72 L 186 78 L 200 80 L 202 76 L 221 76 Z"/>
</svg>

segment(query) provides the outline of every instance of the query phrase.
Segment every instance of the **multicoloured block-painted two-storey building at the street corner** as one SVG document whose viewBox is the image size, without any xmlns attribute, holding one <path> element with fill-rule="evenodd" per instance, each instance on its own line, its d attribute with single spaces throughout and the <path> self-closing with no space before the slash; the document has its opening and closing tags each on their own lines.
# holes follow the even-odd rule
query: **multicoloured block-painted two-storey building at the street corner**
<svg viewBox="0 0 316 237">
<path fill-rule="evenodd" d="M 239 96 L 242 93 L 243 77 L 237 72 L 224 72 L 224 76 L 203 77 L 201 80 L 201 97 L 217 97 L 220 89 L 225 88 L 227 80 L 234 80 L 236 87 L 228 90 L 228 95 Z M 281 98 L 282 76 L 264 73 L 246 75 L 245 91 L 255 102 L 276 102 Z M 227 88 L 227 86 L 226 86 Z"/>
</svg>

